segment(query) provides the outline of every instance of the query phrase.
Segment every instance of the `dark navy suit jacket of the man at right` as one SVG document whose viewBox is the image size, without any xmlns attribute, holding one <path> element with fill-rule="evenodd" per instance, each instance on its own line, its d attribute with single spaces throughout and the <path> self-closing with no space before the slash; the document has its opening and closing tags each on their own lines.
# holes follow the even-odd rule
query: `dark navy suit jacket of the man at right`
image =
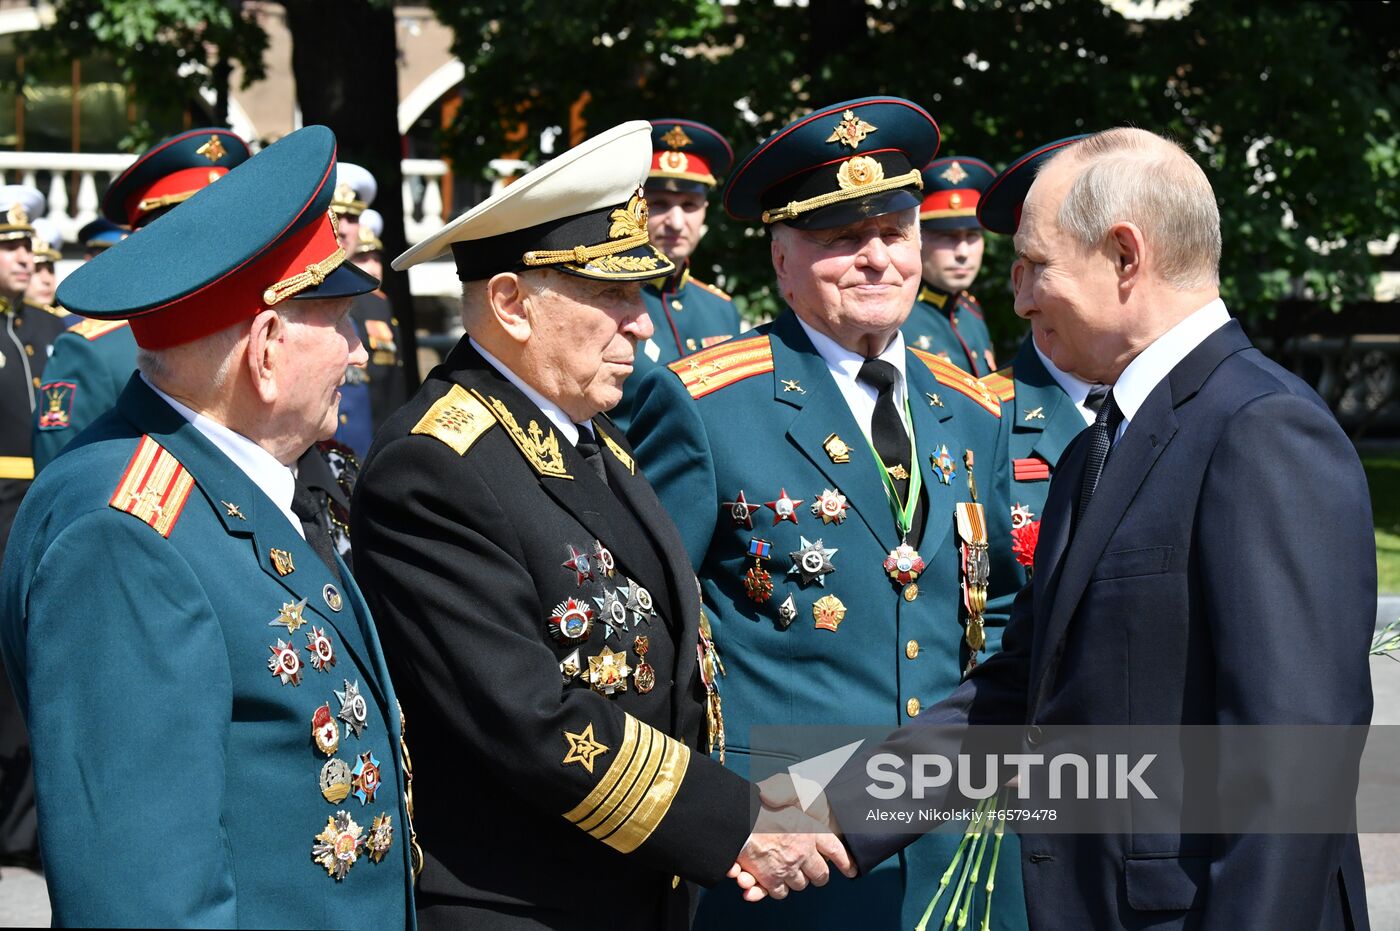
<svg viewBox="0 0 1400 931">
<path fill-rule="evenodd" d="M 1032 748 L 1051 724 L 1366 724 L 1371 503 L 1317 395 L 1232 321 L 1148 396 L 1071 528 L 1085 435 L 1002 652 L 889 743 L 925 722 L 1026 724 Z M 839 813 L 868 808 L 858 776 Z M 868 869 L 907 837 L 848 843 Z M 1033 928 L 1368 927 L 1354 836 L 1025 834 L 1022 874 Z"/>
</svg>

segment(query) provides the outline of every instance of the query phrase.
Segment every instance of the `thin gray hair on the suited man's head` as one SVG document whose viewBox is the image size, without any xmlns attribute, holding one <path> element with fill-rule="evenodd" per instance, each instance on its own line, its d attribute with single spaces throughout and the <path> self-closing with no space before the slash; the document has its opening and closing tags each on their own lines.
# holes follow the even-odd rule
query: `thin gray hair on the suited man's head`
<svg viewBox="0 0 1400 931">
<path fill-rule="evenodd" d="M 1219 284 L 1221 214 L 1205 172 L 1176 143 L 1142 129 L 1110 129 L 1064 148 L 1082 165 L 1060 203 L 1060 228 L 1098 249 L 1116 223 L 1142 230 L 1156 274 L 1194 290 Z"/>
</svg>

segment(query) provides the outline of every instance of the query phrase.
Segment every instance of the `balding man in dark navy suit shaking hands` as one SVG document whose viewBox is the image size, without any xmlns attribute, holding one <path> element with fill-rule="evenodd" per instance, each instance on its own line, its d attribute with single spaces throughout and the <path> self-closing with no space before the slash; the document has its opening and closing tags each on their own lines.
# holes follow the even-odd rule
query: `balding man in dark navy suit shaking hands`
<svg viewBox="0 0 1400 931">
<path fill-rule="evenodd" d="M 981 211 L 1016 231 L 1016 312 L 1112 392 L 1061 459 L 1002 652 L 917 724 L 1026 725 L 1040 753 L 1050 725 L 1365 725 L 1365 476 L 1317 395 L 1226 314 L 1205 175 L 1135 129 L 1065 146 L 1033 185 L 1008 172 Z M 1280 780 L 1212 777 L 1219 798 Z M 869 808 L 867 781 L 833 784 L 839 822 Z M 847 837 L 862 869 L 907 840 Z M 1354 834 L 1026 834 L 1022 874 L 1039 928 L 1368 927 Z"/>
</svg>

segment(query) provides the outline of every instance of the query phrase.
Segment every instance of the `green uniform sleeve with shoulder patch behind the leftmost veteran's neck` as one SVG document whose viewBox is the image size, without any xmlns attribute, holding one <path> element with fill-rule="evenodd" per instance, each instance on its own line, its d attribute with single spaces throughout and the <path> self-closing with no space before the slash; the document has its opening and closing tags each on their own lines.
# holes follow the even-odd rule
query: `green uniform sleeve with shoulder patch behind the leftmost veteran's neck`
<svg viewBox="0 0 1400 931">
<path fill-rule="evenodd" d="M 133 371 L 136 339 L 126 321 L 81 321 L 53 342 L 32 421 L 35 473 L 116 405 Z"/>
</svg>

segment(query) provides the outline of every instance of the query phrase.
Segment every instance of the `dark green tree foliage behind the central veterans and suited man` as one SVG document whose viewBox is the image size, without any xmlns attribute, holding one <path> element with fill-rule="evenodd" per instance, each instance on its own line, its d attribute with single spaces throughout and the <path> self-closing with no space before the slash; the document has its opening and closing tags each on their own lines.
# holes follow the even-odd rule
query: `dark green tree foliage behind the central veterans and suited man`
<svg viewBox="0 0 1400 931">
<path fill-rule="evenodd" d="M 1226 300 L 1256 319 L 1299 284 L 1334 307 L 1368 297 L 1366 242 L 1400 228 L 1394 4 L 1196 0 L 1165 20 L 1095 0 L 433 6 L 466 64 L 447 140 L 459 172 L 503 153 L 543 158 L 542 134 L 559 151 L 571 109 L 591 130 L 699 119 L 742 157 L 812 106 L 896 94 L 939 122 L 942 154 L 998 167 L 1117 125 L 1177 139 L 1219 196 Z M 718 206 L 710 227 L 697 265 L 722 270 L 750 314 L 770 312 L 762 234 Z M 1019 332 L 1001 284 L 1008 256 L 990 237 L 979 280 L 1004 336 Z"/>
</svg>

